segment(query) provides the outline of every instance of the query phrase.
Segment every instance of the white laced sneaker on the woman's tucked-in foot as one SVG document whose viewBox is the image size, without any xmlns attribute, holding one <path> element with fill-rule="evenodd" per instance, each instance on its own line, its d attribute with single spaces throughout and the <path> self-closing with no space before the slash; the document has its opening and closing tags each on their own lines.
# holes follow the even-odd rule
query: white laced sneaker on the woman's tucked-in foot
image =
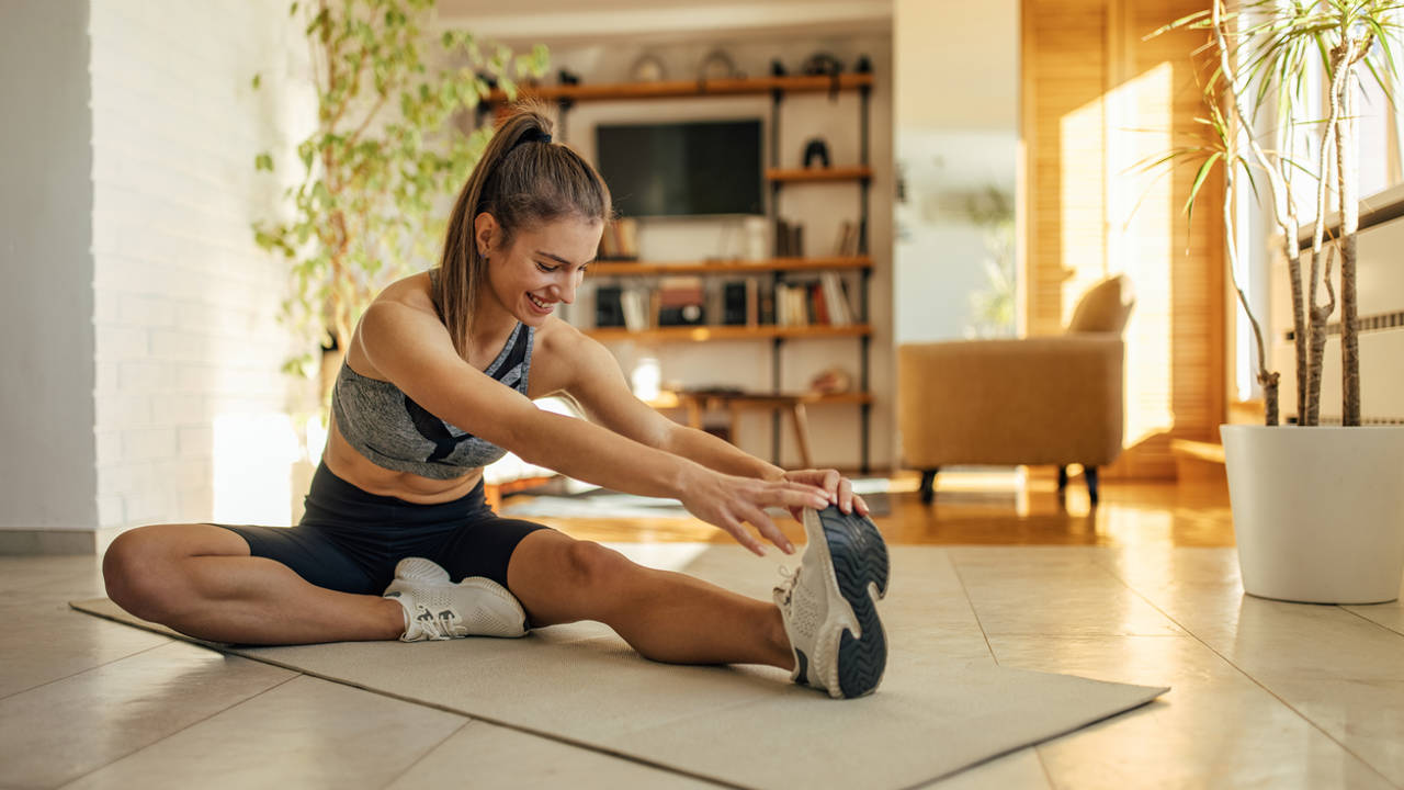
<svg viewBox="0 0 1404 790">
<path fill-rule="evenodd" d="M 402 642 L 526 634 L 526 611 L 507 588 L 483 576 L 455 585 L 448 571 L 423 557 L 400 559 L 385 597 L 404 607 Z"/>
</svg>

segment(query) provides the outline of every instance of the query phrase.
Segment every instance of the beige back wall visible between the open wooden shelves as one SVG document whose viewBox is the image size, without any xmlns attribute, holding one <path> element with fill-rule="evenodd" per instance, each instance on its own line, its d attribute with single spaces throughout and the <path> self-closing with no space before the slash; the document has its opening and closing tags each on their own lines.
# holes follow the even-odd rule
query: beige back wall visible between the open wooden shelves
<svg viewBox="0 0 1404 790">
<path fill-rule="evenodd" d="M 468 21 L 470 24 L 470 21 Z M 869 194 L 869 250 L 876 261 L 870 280 L 869 311 L 873 323 L 870 389 L 875 395 L 869 461 L 875 467 L 892 462 L 892 39 L 882 34 L 790 35 L 769 38 L 689 39 L 670 37 L 665 44 L 650 41 L 611 42 L 608 45 L 552 49 L 552 70 L 566 67 L 587 83 L 628 82 L 629 66 L 644 52 L 663 60 L 667 79 L 691 79 L 698 65 L 713 51 L 724 51 L 736 67 L 748 76 L 769 73 L 771 59 L 779 59 L 790 73 L 814 52 L 830 52 L 852 70 L 859 55 L 868 55 L 876 76 L 869 108 L 869 162 L 875 177 Z M 827 94 L 786 96 L 781 110 L 779 163 L 802 164 L 804 143 L 813 136 L 828 142 L 830 159 L 838 164 L 856 164 L 859 156 L 859 96 L 842 93 L 837 100 Z M 594 128 L 602 122 L 667 122 L 685 119 L 761 118 L 765 145 L 769 145 L 769 96 L 729 98 L 678 98 L 621 103 L 583 103 L 567 115 L 566 139 L 584 156 L 594 156 Z M 769 163 L 769 153 L 764 155 Z M 768 187 L 767 187 L 768 190 Z M 855 183 L 785 187 L 779 215 L 804 225 L 806 252 L 826 254 L 837 238 L 838 222 L 858 219 L 859 188 Z M 768 200 L 768 198 L 767 198 Z M 731 218 L 644 219 L 640 229 L 640 253 L 649 260 L 703 260 L 740 257 L 741 221 Z M 592 278 L 587 278 L 587 283 Z M 594 278 L 602 283 L 601 278 Z M 856 285 L 856 278 L 852 281 Z M 591 304 L 587 294 L 581 305 Z M 583 311 L 581 311 L 583 312 Z M 570 315 L 581 326 L 592 325 L 592 315 Z M 661 363 L 663 381 L 688 387 L 730 385 L 746 389 L 769 389 L 771 342 L 667 343 L 644 346 L 612 343 L 612 350 L 628 374 L 640 357 Z M 781 387 L 804 391 L 821 370 L 842 367 L 856 385 L 859 340 L 789 340 L 781 351 Z M 717 415 L 724 425 L 724 416 Z M 809 409 L 810 443 L 814 462 L 851 468 L 859 460 L 859 409 L 852 405 L 814 406 Z M 737 444 L 755 455 L 771 458 L 771 422 L 764 412 L 743 415 Z M 781 430 L 781 462 L 800 464 L 797 446 L 788 423 Z"/>
</svg>

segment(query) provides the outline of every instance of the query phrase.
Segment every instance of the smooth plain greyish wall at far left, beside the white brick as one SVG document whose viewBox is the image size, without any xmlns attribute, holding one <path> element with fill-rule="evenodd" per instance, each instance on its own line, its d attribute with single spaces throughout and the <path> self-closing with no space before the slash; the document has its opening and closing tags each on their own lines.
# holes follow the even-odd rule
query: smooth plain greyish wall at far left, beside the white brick
<svg viewBox="0 0 1404 790">
<path fill-rule="evenodd" d="M 87 15 L 11 1 L 0 25 L 0 552 L 80 551 L 97 519 Z"/>
</svg>

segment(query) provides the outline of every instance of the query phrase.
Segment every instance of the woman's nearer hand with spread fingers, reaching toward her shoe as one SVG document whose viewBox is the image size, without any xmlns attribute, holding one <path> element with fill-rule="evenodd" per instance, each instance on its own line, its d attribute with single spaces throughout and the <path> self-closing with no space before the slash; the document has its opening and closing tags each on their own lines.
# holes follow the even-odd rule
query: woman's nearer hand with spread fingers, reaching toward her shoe
<svg viewBox="0 0 1404 790">
<path fill-rule="evenodd" d="M 824 509 L 830 503 L 828 493 L 810 482 L 764 481 L 710 470 L 703 470 L 698 481 L 687 485 L 680 500 L 689 513 L 722 527 L 758 557 L 765 557 L 765 548 L 744 524 L 755 527 L 785 554 L 795 554 L 795 545 L 765 513 L 767 507 L 785 507 L 790 513 L 799 513 L 804 507 Z"/>
</svg>

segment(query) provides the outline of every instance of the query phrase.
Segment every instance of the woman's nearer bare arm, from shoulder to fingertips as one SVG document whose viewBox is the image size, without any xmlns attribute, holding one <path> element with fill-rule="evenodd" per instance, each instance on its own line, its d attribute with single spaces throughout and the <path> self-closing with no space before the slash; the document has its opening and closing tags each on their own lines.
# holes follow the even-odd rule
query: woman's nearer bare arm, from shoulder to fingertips
<svg viewBox="0 0 1404 790">
<path fill-rule="evenodd" d="M 762 552 L 760 543 L 743 522 L 792 551 L 764 509 L 823 507 L 827 502 L 823 489 L 813 485 L 724 475 L 587 420 L 538 409 L 521 392 L 465 363 L 444 325 L 409 305 L 371 305 L 361 319 L 359 339 L 371 364 L 430 413 L 529 464 L 615 491 L 675 498 L 757 554 Z M 570 364 L 566 357 L 560 361 Z"/>
</svg>

